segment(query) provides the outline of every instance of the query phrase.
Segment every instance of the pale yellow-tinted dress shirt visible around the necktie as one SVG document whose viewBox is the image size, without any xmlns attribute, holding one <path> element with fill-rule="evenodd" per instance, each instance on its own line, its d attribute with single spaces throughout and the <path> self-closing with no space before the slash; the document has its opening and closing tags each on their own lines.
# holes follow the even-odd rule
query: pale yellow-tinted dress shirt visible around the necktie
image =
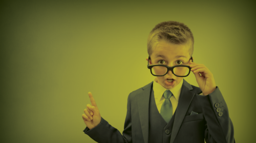
<svg viewBox="0 0 256 143">
<path fill-rule="evenodd" d="M 178 85 L 176 85 L 176 87 L 169 89 L 169 91 L 173 93 L 173 95 L 170 97 L 170 102 L 172 102 L 172 106 L 173 106 L 173 115 L 178 106 L 182 84 L 183 84 L 183 79 L 180 81 Z M 162 104 L 165 100 L 163 93 L 166 90 L 168 89 L 165 89 L 162 85 L 160 85 L 157 82 L 157 78 L 155 78 L 153 82 L 153 91 L 154 91 L 155 101 L 156 101 L 156 105 L 159 113 L 160 113 Z"/>
</svg>

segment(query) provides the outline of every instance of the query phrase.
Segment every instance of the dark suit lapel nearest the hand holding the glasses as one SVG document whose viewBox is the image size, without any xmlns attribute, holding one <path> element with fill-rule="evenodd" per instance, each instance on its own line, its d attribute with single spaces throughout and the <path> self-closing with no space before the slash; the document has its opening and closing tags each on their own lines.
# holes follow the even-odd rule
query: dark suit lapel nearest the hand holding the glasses
<svg viewBox="0 0 256 143">
<path fill-rule="evenodd" d="M 172 136 L 170 138 L 170 143 L 173 143 L 181 126 L 181 123 L 185 117 L 185 114 L 187 112 L 187 109 L 190 105 L 191 100 L 193 99 L 195 93 L 191 92 L 190 90 L 193 90 L 192 86 L 183 79 L 183 84 L 181 87 L 181 93 L 179 98 L 179 103 L 176 108 L 176 115 L 174 119 L 174 126 L 172 130 Z"/>
</svg>

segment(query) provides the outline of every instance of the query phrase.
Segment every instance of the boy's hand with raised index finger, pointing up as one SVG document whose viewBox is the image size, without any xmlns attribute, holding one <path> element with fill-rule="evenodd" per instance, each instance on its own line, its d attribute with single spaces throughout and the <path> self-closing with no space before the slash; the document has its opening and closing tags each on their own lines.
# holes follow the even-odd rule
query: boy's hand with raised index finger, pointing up
<svg viewBox="0 0 256 143">
<path fill-rule="evenodd" d="M 86 126 L 89 129 L 92 129 L 100 123 L 101 117 L 92 93 L 89 92 L 88 95 L 90 97 L 92 105 L 87 104 L 87 109 L 83 110 L 85 114 L 82 115 L 82 119 Z"/>
</svg>

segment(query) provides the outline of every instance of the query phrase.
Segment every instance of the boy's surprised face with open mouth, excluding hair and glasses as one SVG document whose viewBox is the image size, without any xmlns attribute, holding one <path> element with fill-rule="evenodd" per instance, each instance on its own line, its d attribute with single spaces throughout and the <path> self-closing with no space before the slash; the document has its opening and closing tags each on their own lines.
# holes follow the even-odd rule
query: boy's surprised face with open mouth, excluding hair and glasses
<svg viewBox="0 0 256 143">
<path fill-rule="evenodd" d="M 189 43 L 189 42 L 188 42 Z M 167 65 L 169 67 L 175 65 L 188 65 L 190 55 L 189 55 L 189 44 L 170 44 L 165 41 L 159 42 L 155 47 L 153 47 L 153 53 L 150 56 L 150 65 Z M 157 76 L 158 83 L 161 84 L 165 89 L 172 89 L 176 87 L 183 79 L 183 77 L 175 76 L 172 71 L 169 71 L 164 76 Z M 167 80 L 173 79 L 173 80 Z"/>
</svg>

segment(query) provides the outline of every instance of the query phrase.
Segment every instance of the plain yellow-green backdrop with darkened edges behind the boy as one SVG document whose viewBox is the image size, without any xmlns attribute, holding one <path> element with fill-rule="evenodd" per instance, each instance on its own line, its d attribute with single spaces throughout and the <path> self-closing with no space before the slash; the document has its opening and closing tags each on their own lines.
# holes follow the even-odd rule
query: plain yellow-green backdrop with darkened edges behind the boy
<svg viewBox="0 0 256 143">
<path fill-rule="evenodd" d="M 236 141 L 254 140 L 252 1 L 1 1 L 0 12 L 0 142 L 95 142 L 83 133 L 88 92 L 122 132 L 127 96 L 154 79 L 147 36 L 169 20 L 193 32 L 194 61 L 214 74 Z"/>
</svg>

